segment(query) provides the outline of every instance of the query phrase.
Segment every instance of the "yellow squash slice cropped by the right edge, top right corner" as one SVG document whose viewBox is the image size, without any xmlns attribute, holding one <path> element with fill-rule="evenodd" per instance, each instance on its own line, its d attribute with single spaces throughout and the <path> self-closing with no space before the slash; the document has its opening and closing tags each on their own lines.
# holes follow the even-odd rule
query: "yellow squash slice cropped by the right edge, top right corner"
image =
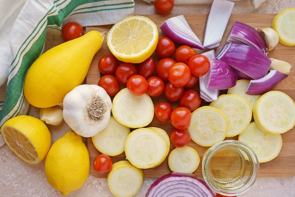
<svg viewBox="0 0 295 197">
<path fill-rule="evenodd" d="M 271 23 L 271 28 L 278 33 L 279 42 L 283 45 L 295 45 L 295 8 L 279 12 Z"/>
</svg>

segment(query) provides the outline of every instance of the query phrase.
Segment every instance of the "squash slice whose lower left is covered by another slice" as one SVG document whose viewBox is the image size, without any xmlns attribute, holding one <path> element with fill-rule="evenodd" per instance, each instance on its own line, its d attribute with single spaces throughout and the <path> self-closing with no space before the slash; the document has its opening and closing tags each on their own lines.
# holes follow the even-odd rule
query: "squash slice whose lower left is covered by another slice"
<svg viewBox="0 0 295 197">
<path fill-rule="evenodd" d="M 228 131 L 226 137 L 236 136 L 242 133 L 252 119 L 250 103 L 236 94 L 223 94 L 217 100 L 212 101 L 210 106 L 220 109 L 227 118 Z"/>
</svg>

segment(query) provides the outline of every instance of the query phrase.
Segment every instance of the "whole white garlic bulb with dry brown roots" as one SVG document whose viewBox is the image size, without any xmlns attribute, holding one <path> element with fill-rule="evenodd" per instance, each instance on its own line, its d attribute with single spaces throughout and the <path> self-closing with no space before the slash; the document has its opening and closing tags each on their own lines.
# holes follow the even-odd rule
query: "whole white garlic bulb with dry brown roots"
<svg viewBox="0 0 295 197">
<path fill-rule="evenodd" d="M 109 123 L 111 109 L 111 98 L 97 85 L 79 85 L 63 99 L 63 119 L 83 137 L 92 137 L 104 129 Z"/>
</svg>

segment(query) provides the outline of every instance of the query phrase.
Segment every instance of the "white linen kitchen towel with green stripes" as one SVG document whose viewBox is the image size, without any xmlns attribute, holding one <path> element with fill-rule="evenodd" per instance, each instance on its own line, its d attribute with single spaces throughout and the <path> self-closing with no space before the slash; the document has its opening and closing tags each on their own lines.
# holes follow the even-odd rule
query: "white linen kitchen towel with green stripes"
<svg viewBox="0 0 295 197">
<path fill-rule="evenodd" d="M 60 31 L 70 21 L 84 27 L 114 24 L 133 13 L 134 0 L 1 0 L 0 126 L 28 111 L 24 77 L 42 54 L 47 28 Z"/>
</svg>

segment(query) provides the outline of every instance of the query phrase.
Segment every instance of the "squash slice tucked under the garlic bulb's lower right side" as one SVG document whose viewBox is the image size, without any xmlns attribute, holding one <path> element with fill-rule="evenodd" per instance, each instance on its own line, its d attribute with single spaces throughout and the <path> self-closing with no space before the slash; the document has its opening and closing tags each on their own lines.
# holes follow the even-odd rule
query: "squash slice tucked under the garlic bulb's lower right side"
<svg viewBox="0 0 295 197">
<path fill-rule="evenodd" d="M 109 124 L 92 137 L 92 142 L 101 153 L 114 156 L 124 152 L 124 142 L 130 134 L 130 128 L 117 122 L 113 116 Z"/>
</svg>

